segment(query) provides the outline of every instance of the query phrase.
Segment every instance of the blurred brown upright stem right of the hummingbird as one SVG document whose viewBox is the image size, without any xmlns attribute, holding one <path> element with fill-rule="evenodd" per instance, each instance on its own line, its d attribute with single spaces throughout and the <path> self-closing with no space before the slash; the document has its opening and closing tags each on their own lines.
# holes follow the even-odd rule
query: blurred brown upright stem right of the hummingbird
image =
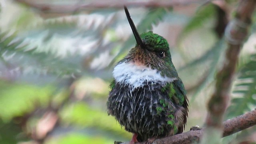
<svg viewBox="0 0 256 144">
<path fill-rule="evenodd" d="M 226 28 L 226 36 L 229 40 L 228 49 L 226 50 L 226 60 L 222 69 L 216 76 L 215 91 L 208 103 L 206 127 L 214 127 L 222 130 L 223 115 L 228 106 L 230 87 L 235 74 L 238 55 L 241 49 L 241 44 L 247 34 L 246 31 L 250 24 L 250 18 L 255 5 L 255 0 L 241 0 L 240 5 L 238 6 L 236 19 L 230 22 Z"/>
</svg>

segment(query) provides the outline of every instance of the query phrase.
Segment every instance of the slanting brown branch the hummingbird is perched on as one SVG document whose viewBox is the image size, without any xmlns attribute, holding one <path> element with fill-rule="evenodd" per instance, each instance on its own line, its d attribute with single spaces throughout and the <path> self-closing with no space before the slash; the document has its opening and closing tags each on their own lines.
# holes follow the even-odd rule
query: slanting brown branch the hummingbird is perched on
<svg viewBox="0 0 256 144">
<path fill-rule="evenodd" d="M 255 126 L 256 110 L 252 110 L 231 120 L 226 120 L 223 122 L 223 125 L 223 137 L 229 136 L 251 126 Z M 205 128 L 200 130 L 190 130 L 182 134 L 156 139 L 152 144 L 191 144 L 193 142 L 199 142 L 202 134 L 204 133 L 204 130 Z M 122 144 L 129 144 L 129 142 L 124 142 Z M 136 144 L 146 144 L 146 142 L 140 142 Z"/>
</svg>

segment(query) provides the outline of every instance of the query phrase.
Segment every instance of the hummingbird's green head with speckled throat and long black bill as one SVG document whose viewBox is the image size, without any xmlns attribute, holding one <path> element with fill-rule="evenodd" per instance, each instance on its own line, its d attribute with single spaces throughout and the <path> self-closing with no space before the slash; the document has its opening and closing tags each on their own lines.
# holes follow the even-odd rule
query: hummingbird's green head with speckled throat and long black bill
<svg viewBox="0 0 256 144">
<path fill-rule="evenodd" d="M 137 42 L 136 47 L 130 50 L 130 53 L 124 60 L 133 61 L 136 66 L 146 66 L 153 70 L 156 69 L 160 72 L 161 76 L 178 78 L 178 74 L 172 63 L 167 40 L 158 34 L 154 34 L 152 31 L 139 35 L 127 8 L 124 7 L 124 10 Z"/>
</svg>

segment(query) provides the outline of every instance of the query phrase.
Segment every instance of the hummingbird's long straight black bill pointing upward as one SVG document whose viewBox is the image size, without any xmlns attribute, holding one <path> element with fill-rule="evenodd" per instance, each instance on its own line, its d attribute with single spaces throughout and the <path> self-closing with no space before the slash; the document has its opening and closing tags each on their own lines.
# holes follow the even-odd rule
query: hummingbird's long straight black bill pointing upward
<svg viewBox="0 0 256 144">
<path fill-rule="evenodd" d="M 132 21 L 132 18 L 131 18 L 131 16 L 130 16 L 130 13 L 129 13 L 129 11 L 128 11 L 128 9 L 127 9 L 126 6 L 124 6 L 124 11 L 125 11 L 126 17 L 127 17 L 127 19 L 128 19 L 128 22 L 129 22 L 129 24 L 130 24 L 130 26 L 131 26 L 131 28 L 132 28 L 132 32 L 133 32 L 133 34 L 134 34 L 134 37 L 135 37 L 135 39 L 136 39 L 136 42 L 137 42 L 138 46 L 140 46 L 140 47 L 142 47 L 142 48 L 145 48 L 145 45 L 144 45 L 144 43 L 142 42 L 142 39 L 140 38 L 140 34 L 138 33 L 138 31 L 137 31 L 137 29 L 136 29 L 136 26 L 134 25 L 134 23 L 133 23 L 133 21 Z"/>
</svg>

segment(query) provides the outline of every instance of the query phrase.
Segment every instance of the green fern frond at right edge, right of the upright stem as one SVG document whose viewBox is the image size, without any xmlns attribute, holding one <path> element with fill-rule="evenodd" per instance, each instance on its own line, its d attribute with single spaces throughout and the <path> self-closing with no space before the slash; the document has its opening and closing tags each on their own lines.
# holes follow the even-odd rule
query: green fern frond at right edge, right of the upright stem
<svg viewBox="0 0 256 144">
<path fill-rule="evenodd" d="M 233 118 L 252 110 L 256 106 L 256 54 L 250 56 L 235 80 L 232 90 L 234 98 L 227 110 L 227 118 Z"/>
</svg>

